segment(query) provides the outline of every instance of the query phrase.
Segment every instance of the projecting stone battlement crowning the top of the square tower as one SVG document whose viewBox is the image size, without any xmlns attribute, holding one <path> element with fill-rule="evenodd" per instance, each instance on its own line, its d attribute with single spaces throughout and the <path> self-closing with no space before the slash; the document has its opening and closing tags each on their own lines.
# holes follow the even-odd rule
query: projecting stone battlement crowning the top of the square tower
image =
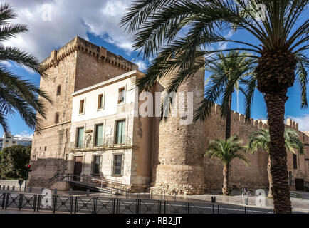
<svg viewBox="0 0 309 228">
<path fill-rule="evenodd" d="M 46 58 L 41 63 L 41 68 L 43 71 L 48 70 L 48 68 L 58 66 L 59 61 L 69 56 L 74 51 L 82 51 L 87 53 L 89 56 L 97 58 L 98 62 L 109 63 L 117 66 L 125 71 L 137 70 L 138 66 L 135 63 L 127 61 L 122 56 L 117 56 L 111 53 L 106 48 L 101 46 L 96 46 L 89 41 L 85 41 L 83 38 L 76 36 L 72 41 L 68 42 L 65 46 L 60 48 L 58 51 L 54 50 L 51 52 L 51 56 Z"/>
</svg>

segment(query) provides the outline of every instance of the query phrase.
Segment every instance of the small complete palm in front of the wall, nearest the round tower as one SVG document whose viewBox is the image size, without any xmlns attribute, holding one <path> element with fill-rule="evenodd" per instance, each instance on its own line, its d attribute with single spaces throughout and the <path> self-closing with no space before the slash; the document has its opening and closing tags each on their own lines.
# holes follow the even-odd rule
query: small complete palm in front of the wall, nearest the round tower
<svg viewBox="0 0 309 228">
<path fill-rule="evenodd" d="M 224 182 L 222 187 L 222 192 L 224 195 L 229 195 L 229 167 L 231 161 L 234 159 L 240 159 L 248 165 L 248 160 L 242 152 L 246 152 L 246 147 L 242 146 L 243 142 L 237 138 L 237 136 L 232 136 L 227 140 L 216 139 L 209 142 L 209 147 L 207 149 L 206 155 L 212 159 L 214 157 L 219 158 L 224 165 L 223 176 Z"/>
</svg>

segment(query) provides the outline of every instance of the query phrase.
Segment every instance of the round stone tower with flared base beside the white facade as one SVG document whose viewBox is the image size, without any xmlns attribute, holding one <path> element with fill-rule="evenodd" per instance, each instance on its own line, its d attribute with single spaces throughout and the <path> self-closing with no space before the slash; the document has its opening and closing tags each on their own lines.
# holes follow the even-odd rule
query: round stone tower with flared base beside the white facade
<svg viewBox="0 0 309 228">
<path fill-rule="evenodd" d="M 169 77 L 160 81 L 164 88 Z M 164 89 L 162 88 L 162 89 Z M 189 78 L 177 94 L 193 92 L 193 109 L 195 110 L 204 94 L 204 70 L 201 69 Z M 188 101 L 186 101 L 188 102 Z M 204 192 L 204 125 L 197 122 L 181 125 L 182 113 L 178 117 L 167 118 L 155 126 L 155 154 L 152 169 L 152 191 L 161 194 L 195 195 Z"/>
</svg>

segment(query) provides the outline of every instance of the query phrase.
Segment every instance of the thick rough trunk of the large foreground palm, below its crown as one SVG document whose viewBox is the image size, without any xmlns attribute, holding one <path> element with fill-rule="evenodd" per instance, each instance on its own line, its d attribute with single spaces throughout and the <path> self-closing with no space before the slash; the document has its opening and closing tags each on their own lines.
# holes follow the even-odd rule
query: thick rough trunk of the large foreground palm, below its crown
<svg viewBox="0 0 309 228">
<path fill-rule="evenodd" d="M 287 90 L 266 93 L 264 95 L 271 143 L 269 155 L 271 157 L 271 176 L 273 178 L 274 210 L 278 214 L 292 213 L 290 203 L 290 189 L 288 186 L 288 169 L 286 147 L 284 141 L 284 113 L 285 103 L 288 100 Z"/>
</svg>

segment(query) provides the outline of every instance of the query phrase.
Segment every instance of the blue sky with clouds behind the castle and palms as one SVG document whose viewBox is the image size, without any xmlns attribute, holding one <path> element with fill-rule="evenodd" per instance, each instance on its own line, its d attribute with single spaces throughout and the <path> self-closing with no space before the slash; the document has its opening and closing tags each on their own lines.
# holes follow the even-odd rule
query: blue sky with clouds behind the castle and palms
<svg viewBox="0 0 309 228">
<path fill-rule="evenodd" d="M 6 2 L 0 0 L 0 3 Z M 24 51 L 33 53 L 40 60 L 48 57 L 51 51 L 58 49 L 70 41 L 74 36 L 88 39 L 98 46 L 104 46 L 113 53 L 117 53 L 129 61 L 135 58 L 135 63 L 140 70 L 145 70 L 148 61 L 137 57 L 137 52 L 132 49 L 132 38 L 124 33 L 118 26 L 120 17 L 124 14 L 130 0 L 106 1 L 78 1 L 53 0 L 53 1 L 9 1 L 16 9 L 19 17 L 14 22 L 27 24 L 30 31 L 5 43 L 16 46 Z M 48 5 L 44 5 L 48 3 Z M 48 8 L 49 7 L 49 8 Z M 49 15 L 51 14 L 51 15 Z M 49 18 L 49 16 L 51 16 Z M 51 20 L 50 20 L 51 19 Z M 246 33 L 237 33 L 233 38 L 242 38 L 251 43 L 256 40 Z M 231 46 L 229 47 L 236 47 Z M 216 46 L 214 46 L 216 48 Z M 17 67 L 14 63 L 6 65 L 21 77 L 39 85 L 40 76 Z M 209 73 L 206 73 L 206 77 Z M 309 93 L 309 92 L 308 92 Z M 300 123 L 301 130 L 309 130 L 309 110 L 300 109 L 300 90 L 298 83 L 288 90 L 286 103 L 286 117 L 293 118 Z M 239 95 L 239 112 L 243 113 L 243 95 Z M 236 94 L 232 103 L 236 110 Z M 252 107 L 252 118 L 266 119 L 266 105 L 263 95 L 256 91 Z M 29 129 L 19 115 L 9 117 L 11 132 L 14 135 L 30 136 L 33 131 Z M 0 128 L 0 134 L 3 130 Z"/>
</svg>

